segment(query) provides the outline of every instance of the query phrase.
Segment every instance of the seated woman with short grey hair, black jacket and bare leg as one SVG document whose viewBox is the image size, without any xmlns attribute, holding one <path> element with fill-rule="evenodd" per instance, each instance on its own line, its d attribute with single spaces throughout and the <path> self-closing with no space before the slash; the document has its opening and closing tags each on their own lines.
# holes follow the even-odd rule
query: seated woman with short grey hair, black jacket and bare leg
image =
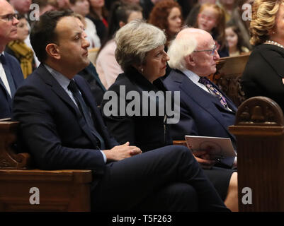
<svg viewBox="0 0 284 226">
<path fill-rule="evenodd" d="M 147 152 L 172 143 L 168 122 L 173 100 L 160 79 L 169 60 L 164 52 L 166 37 L 158 28 L 138 20 L 125 27 L 115 35 L 115 58 L 125 72 L 110 86 L 101 106 L 108 130 L 116 140 L 130 141 Z M 227 207 L 237 210 L 237 173 L 213 168 L 205 174 Z"/>
</svg>

